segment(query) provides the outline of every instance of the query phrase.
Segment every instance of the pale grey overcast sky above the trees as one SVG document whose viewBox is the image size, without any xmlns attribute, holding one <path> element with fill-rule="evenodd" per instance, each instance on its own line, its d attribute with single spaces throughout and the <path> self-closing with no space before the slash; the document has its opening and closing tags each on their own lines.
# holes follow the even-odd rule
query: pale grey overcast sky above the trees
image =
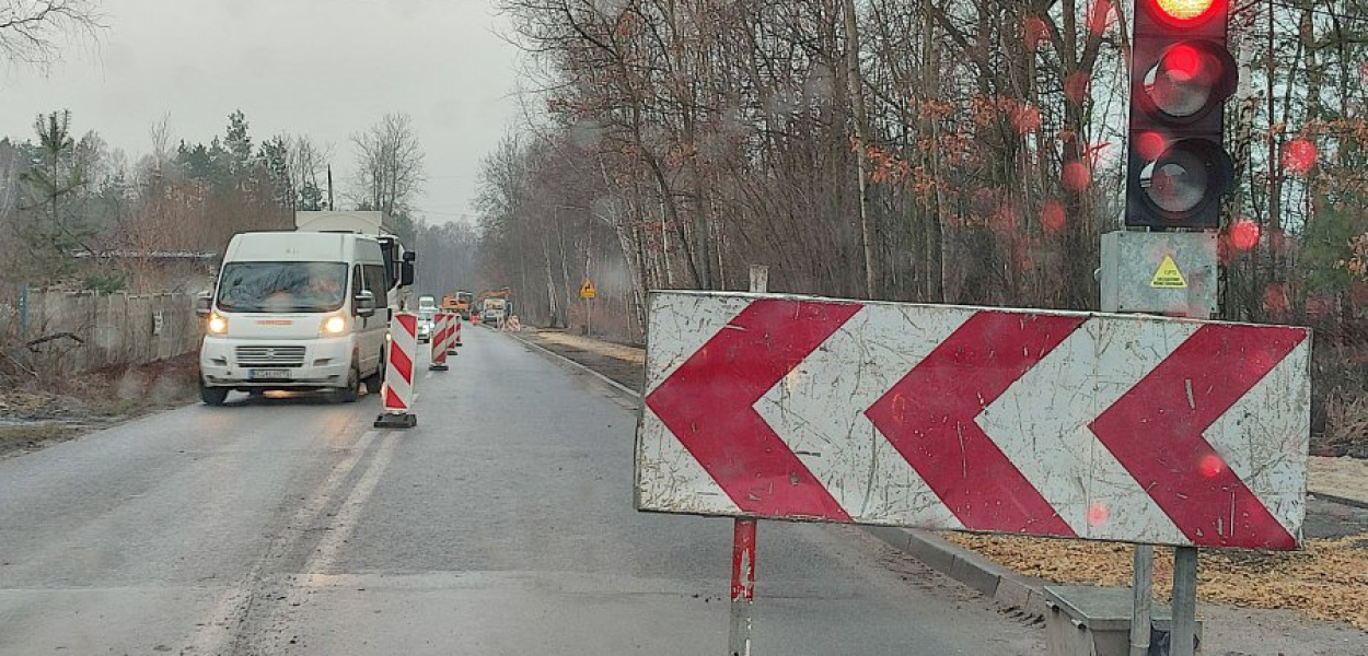
<svg viewBox="0 0 1368 656">
<path fill-rule="evenodd" d="M 256 142 L 279 133 L 334 145 L 350 178 L 349 135 L 386 112 L 413 116 L 431 178 L 430 221 L 471 215 L 480 159 L 518 124 L 518 51 L 491 0 L 105 0 L 94 48 L 67 48 L 44 75 L 0 71 L 0 135 L 71 109 L 130 159 L 170 113 L 176 139 L 222 135 L 241 108 Z"/>
</svg>

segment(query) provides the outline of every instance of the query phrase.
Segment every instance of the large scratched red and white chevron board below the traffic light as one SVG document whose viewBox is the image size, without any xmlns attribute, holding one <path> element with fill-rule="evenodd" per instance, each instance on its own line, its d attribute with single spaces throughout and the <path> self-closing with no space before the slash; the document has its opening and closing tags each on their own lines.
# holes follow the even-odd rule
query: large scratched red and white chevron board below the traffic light
<svg viewBox="0 0 1368 656">
<path fill-rule="evenodd" d="M 1293 549 L 1311 332 L 655 292 L 640 510 Z"/>
</svg>

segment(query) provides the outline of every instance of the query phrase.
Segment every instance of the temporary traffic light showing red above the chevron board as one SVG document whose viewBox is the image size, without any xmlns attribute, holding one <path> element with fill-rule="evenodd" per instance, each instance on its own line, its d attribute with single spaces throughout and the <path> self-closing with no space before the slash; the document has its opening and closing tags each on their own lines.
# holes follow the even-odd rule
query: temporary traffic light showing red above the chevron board
<svg viewBox="0 0 1368 656">
<path fill-rule="evenodd" d="M 1230 0 L 1135 0 L 1134 14 L 1126 226 L 1219 228 L 1234 175 L 1224 102 L 1239 77 Z"/>
</svg>

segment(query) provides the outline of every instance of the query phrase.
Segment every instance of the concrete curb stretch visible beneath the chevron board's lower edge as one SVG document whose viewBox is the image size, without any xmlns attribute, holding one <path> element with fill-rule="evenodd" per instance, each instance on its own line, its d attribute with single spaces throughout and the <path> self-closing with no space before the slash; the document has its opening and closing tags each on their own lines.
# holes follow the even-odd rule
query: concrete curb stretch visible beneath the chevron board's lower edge
<svg viewBox="0 0 1368 656">
<path fill-rule="evenodd" d="M 1003 608 L 1041 619 L 1048 612 L 1040 586 L 963 547 L 925 530 L 891 526 L 862 526 L 862 529 L 889 547 L 926 563 L 928 567 L 990 597 Z"/>
</svg>

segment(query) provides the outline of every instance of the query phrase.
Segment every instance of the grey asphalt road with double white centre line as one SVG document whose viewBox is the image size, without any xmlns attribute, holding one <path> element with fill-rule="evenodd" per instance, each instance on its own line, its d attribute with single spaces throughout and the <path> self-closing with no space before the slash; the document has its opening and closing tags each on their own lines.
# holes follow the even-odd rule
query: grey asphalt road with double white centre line
<svg viewBox="0 0 1368 656">
<path fill-rule="evenodd" d="M 465 333 L 412 430 L 234 396 L 0 461 L 0 653 L 725 653 L 731 521 L 632 508 L 635 400 Z M 762 523 L 757 594 L 757 655 L 1044 649 L 851 528 Z"/>
</svg>

